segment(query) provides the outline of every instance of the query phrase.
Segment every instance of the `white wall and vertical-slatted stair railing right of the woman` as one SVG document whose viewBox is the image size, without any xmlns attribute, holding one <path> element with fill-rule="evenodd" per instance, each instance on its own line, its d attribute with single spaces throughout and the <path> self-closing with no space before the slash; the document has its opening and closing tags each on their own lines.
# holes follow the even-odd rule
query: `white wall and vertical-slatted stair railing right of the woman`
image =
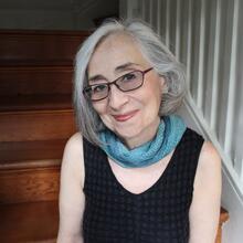
<svg viewBox="0 0 243 243">
<path fill-rule="evenodd" d="M 122 0 L 120 15 L 149 22 L 187 68 L 180 114 L 223 160 L 223 243 L 243 242 L 243 1 Z"/>
</svg>

